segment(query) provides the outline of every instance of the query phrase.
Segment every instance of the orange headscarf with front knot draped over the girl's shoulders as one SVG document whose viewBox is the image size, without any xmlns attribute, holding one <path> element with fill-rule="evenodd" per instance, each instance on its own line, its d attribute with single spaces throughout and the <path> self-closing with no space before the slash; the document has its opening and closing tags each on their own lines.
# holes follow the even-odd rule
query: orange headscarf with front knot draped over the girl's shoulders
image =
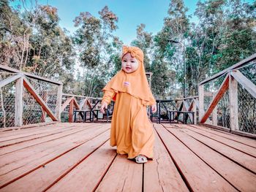
<svg viewBox="0 0 256 192">
<path fill-rule="evenodd" d="M 143 51 L 139 47 L 123 46 L 121 59 L 125 54 L 130 53 L 138 60 L 138 69 L 132 73 L 126 73 L 121 69 L 103 88 L 103 91 L 126 92 L 142 100 L 142 104 L 155 104 L 154 96 L 148 85 L 143 65 Z M 116 98 L 113 98 L 115 100 Z"/>
</svg>

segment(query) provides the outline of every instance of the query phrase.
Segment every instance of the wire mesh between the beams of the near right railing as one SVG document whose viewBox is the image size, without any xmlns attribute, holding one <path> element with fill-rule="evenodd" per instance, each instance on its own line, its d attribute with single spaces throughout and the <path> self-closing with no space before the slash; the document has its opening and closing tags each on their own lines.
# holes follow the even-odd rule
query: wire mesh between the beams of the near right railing
<svg viewBox="0 0 256 192">
<path fill-rule="evenodd" d="M 247 80 L 256 84 L 256 63 L 255 61 L 250 62 L 244 66 L 237 69 L 233 69 L 234 72 L 241 72 L 241 74 L 246 77 Z M 206 82 L 204 84 L 204 110 L 206 111 L 219 90 L 222 82 L 228 72 L 222 74 L 222 76 Z M 232 77 L 233 78 L 233 77 Z M 239 131 L 244 131 L 250 134 L 256 134 L 256 99 L 253 97 L 246 88 L 244 88 L 240 82 L 238 82 L 238 127 Z M 219 100 L 217 107 L 215 107 L 217 112 L 217 125 L 230 128 L 230 100 L 229 100 L 229 90 L 223 94 L 222 98 Z M 208 123 L 212 123 L 213 113 L 208 118 Z"/>
</svg>

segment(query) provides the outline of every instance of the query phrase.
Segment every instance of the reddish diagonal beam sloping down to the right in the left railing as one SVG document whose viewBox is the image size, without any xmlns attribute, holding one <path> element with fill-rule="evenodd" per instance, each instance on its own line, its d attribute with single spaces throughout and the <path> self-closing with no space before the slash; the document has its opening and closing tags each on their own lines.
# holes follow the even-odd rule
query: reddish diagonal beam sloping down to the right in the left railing
<svg viewBox="0 0 256 192">
<path fill-rule="evenodd" d="M 50 108 L 47 106 L 47 104 L 45 104 L 45 101 L 42 100 L 42 98 L 39 96 L 37 91 L 33 88 L 31 83 L 28 80 L 26 80 L 26 77 L 23 78 L 23 85 L 29 91 L 29 93 L 31 93 L 31 95 L 34 97 L 34 99 L 36 99 L 37 103 L 39 103 L 39 105 L 42 107 L 42 109 L 45 110 L 45 112 L 47 112 L 47 114 L 50 116 L 50 118 L 54 121 L 57 121 L 58 118 L 55 117 L 53 112 L 50 110 Z"/>
</svg>

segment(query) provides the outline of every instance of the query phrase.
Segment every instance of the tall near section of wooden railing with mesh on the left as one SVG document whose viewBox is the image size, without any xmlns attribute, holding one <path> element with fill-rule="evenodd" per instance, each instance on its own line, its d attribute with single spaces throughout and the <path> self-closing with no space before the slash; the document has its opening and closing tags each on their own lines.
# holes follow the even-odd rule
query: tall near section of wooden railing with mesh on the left
<svg viewBox="0 0 256 192">
<path fill-rule="evenodd" d="M 46 115 L 53 121 L 60 120 L 61 82 L 20 72 L 3 65 L 0 65 L 0 72 L 1 125 L 6 127 L 23 126 L 24 122 L 25 124 L 39 123 L 38 121 L 45 120 Z M 50 102 L 45 93 L 51 94 Z M 38 120 L 35 120 L 33 114 L 24 113 L 24 110 L 29 111 L 36 108 L 37 112 L 38 110 L 42 111 L 41 114 L 37 114 Z"/>
</svg>

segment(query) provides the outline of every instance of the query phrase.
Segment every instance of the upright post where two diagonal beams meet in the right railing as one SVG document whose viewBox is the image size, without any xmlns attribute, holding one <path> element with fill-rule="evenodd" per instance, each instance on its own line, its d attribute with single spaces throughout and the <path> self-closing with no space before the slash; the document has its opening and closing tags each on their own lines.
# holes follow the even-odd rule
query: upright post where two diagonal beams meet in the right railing
<svg viewBox="0 0 256 192">
<path fill-rule="evenodd" d="M 238 131 L 238 82 L 231 75 L 229 79 L 230 128 Z"/>
</svg>

